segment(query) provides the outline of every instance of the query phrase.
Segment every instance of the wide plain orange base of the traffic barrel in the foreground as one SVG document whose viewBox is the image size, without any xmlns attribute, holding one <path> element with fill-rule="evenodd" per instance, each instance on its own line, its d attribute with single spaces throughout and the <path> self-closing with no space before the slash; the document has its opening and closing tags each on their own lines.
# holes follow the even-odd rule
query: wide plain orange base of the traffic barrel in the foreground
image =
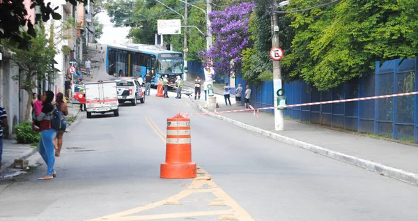
<svg viewBox="0 0 418 221">
<path fill-rule="evenodd" d="M 161 178 L 196 178 L 196 163 L 161 164 Z"/>
</svg>

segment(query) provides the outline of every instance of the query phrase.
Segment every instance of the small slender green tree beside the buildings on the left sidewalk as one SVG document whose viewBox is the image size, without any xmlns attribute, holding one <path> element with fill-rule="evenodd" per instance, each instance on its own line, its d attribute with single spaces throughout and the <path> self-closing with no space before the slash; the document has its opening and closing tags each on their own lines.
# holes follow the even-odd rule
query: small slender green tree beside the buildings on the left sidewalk
<svg viewBox="0 0 418 221">
<path fill-rule="evenodd" d="M 31 116 L 31 97 L 33 89 L 38 87 L 38 81 L 47 79 L 52 82 L 55 78 L 53 64 L 56 50 L 51 42 L 51 38 L 46 38 L 45 32 L 42 31 L 35 38 L 31 38 L 28 49 L 7 44 L 14 52 L 13 61 L 21 70 L 20 75 L 13 76 L 13 79 L 20 83 L 20 89 L 26 91 L 29 96 L 24 121 L 28 121 Z"/>
</svg>

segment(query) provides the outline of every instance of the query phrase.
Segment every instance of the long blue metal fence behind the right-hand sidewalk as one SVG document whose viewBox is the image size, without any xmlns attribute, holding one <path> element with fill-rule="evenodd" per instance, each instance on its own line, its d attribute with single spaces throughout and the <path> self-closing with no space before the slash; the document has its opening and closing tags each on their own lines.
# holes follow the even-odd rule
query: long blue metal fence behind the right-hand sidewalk
<svg viewBox="0 0 418 221">
<path fill-rule="evenodd" d="M 194 64 L 195 73 L 203 76 L 200 63 L 190 64 Z M 198 69 L 201 69 L 200 72 Z M 329 91 L 320 92 L 305 82 L 284 84 L 284 89 L 287 104 L 292 105 L 418 91 L 417 77 L 417 58 L 397 59 L 383 63 L 377 61 L 374 73 L 363 75 Z M 224 83 L 224 80 L 218 77 L 217 82 Z M 241 77 L 235 79 L 235 84 L 242 84 L 243 87 L 247 85 Z M 250 102 L 254 108 L 274 105 L 272 82 L 263 82 L 260 86 L 250 84 L 250 88 Z M 272 113 L 273 110 L 266 112 Z M 418 96 L 293 107 L 288 108 L 285 115 L 309 123 L 374 133 L 394 139 L 414 140 L 418 143 Z"/>
</svg>

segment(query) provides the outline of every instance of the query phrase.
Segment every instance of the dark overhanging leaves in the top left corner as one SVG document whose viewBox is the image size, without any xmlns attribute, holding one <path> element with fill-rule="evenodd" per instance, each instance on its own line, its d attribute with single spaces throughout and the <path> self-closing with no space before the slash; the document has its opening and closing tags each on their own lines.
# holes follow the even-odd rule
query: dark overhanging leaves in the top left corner
<svg viewBox="0 0 418 221">
<path fill-rule="evenodd" d="M 87 0 L 65 0 L 73 6 L 77 3 L 87 3 Z M 50 17 L 61 20 L 61 15 L 56 13 L 59 7 L 51 8 L 51 3 L 44 0 L 31 0 L 31 8 L 36 7 L 39 13 L 35 16 L 35 24 L 47 22 Z M 36 36 L 34 24 L 29 20 L 28 12 L 22 0 L 0 1 L 0 40 L 10 39 L 20 48 L 27 48 L 31 38 Z M 27 29 L 23 29 L 26 25 Z"/>
</svg>

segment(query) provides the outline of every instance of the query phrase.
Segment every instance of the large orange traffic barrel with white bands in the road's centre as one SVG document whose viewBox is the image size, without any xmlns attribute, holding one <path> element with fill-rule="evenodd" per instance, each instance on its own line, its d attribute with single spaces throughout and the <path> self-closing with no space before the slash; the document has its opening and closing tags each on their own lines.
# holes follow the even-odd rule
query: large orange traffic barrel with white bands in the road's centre
<svg viewBox="0 0 418 221">
<path fill-rule="evenodd" d="M 187 114 L 180 112 L 167 119 L 166 162 L 161 164 L 161 178 L 196 178 L 190 138 L 190 119 Z"/>
</svg>

